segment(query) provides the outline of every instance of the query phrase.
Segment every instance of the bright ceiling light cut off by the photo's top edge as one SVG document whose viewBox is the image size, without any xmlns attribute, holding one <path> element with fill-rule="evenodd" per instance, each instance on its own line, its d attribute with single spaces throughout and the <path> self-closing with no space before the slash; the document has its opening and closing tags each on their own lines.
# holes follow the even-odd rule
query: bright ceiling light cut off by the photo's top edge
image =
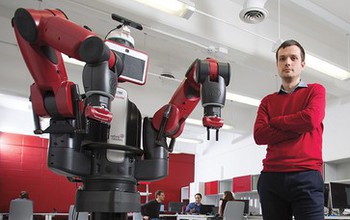
<svg viewBox="0 0 350 220">
<path fill-rule="evenodd" d="M 196 10 L 194 3 L 188 0 L 136 0 L 150 7 L 189 19 Z"/>
</svg>

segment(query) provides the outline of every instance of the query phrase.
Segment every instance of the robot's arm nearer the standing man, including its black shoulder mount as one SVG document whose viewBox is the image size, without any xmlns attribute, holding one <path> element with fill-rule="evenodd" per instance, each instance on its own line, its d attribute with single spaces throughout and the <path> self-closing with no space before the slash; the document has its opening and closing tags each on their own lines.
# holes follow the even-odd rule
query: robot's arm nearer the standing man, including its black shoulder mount
<svg viewBox="0 0 350 220">
<path fill-rule="evenodd" d="M 225 103 L 226 86 L 230 81 L 230 66 L 214 59 L 195 60 L 186 73 L 169 104 L 159 109 L 153 118 L 143 121 L 144 160 L 139 161 L 136 178 L 155 180 L 166 177 L 168 152 L 172 152 L 175 139 L 181 135 L 185 121 L 198 102 L 204 107 L 203 125 L 218 130 L 223 125 L 221 108 Z M 168 146 L 166 138 L 171 138 Z"/>
</svg>

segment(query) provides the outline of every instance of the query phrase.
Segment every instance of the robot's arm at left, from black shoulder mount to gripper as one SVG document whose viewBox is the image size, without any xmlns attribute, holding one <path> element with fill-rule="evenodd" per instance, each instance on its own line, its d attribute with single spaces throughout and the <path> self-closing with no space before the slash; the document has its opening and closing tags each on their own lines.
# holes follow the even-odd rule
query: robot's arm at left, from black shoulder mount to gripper
<svg viewBox="0 0 350 220">
<path fill-rule="evenodd" d="M 92 31 L 67 19 L 60 10 L 17 9 L 16 39 L 34 83 L 30 99 L 36 134 L 49 133 L 48 165 L 65 176 L 91 174 L 85 143 L 106 143 L 110 105 L 122 69 L 119 57 Z M 61 53 L 86 63 L 85 94 L 68 80 Z M 39 117 L 50 118 L 41 129 Z"/>
</svg>

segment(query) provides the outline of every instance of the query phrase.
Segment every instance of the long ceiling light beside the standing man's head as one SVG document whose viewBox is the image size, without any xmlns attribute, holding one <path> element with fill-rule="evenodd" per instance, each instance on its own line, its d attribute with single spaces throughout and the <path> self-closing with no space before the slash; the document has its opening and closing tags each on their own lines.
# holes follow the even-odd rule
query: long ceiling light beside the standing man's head
<svg viewBox="0 0 350 220">
<path fill-rule="evenodd" d="M 328 76 L 337 78 L 339 80 L 346 80 L 350 78 L 350 72 L 338 66 L 335 66 L 327 61 L 321 60 L 310 54 L 305 56 L 305 65 Z"/>
</svg>

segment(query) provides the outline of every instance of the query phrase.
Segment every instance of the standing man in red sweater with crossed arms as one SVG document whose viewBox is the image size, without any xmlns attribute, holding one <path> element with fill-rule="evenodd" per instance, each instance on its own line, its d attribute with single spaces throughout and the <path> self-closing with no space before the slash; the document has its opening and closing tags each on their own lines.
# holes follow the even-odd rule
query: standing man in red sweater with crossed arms
<svg viewBox="0 0 350 220">
<path fill-rule="evenodd" d="M 301 80 L 305 51 L 295 40 L 276 52 L 279 92 L 263 98 L 254 139 L 267 145 L 258 192 L 264 220 L 320 220 L 323 214 L 322 133 L 325 88 Z"/>
</svg>

